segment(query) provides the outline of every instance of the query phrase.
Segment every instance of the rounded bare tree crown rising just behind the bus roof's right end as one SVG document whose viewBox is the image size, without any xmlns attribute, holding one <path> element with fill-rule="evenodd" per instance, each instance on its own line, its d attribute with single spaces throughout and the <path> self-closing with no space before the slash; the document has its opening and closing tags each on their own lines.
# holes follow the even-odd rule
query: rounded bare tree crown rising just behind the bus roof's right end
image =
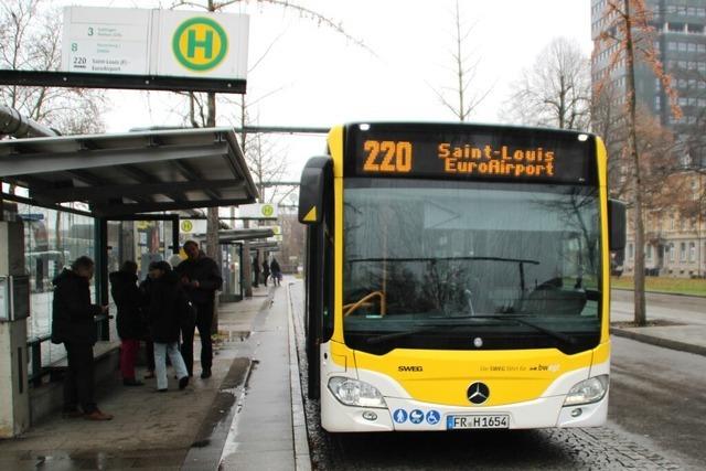
<svg viewBox="0 0 706 471">
<path fill-rule="evenodd" d="M 588 128 L 590 62 L 576 41 L 552 41 L 511 87 L 505 116 L 531 126 Z"/>
</svg>

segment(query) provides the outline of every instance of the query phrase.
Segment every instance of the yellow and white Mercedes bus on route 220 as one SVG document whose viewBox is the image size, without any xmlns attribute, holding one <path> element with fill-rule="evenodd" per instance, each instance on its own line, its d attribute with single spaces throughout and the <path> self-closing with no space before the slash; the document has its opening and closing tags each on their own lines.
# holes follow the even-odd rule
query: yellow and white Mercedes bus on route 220
<svg viewBox="0 0 706 471">
<path fill-rule="evenodd" d="M 331 432 L 606 421 L 608 199 L 590 133 L 353 122 L 301 178 L 311 398 Z"/>
</svg>

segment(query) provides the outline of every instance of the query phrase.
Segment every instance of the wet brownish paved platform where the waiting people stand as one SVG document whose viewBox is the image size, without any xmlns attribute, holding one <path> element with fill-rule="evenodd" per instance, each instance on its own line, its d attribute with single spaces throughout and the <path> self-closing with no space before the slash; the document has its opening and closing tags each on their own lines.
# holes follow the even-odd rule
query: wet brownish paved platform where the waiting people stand
<svg viewBox="0 0 706 471">
<path fill-rule="evenodd" d="M 146 379 L 141 387 L 125 387 L 116 372 L 115 382 L 97 390 L 99 407 L 115 419 L 64 419 L 57 411 L 18 438 L 0 440 L 0 470 L 180 469 L 192 450 L 213 446 L 214 430 L 232 413 L 234 392 L 245 387 L 252 370 L 250 331 L 274 293 L 271 287 L 258 288 L 253 298 L 221 304 L 211 378 L 199 377 L 196 361 L 194 377 L 179 390 L 169 368 L 170 390 L 159 394 L 154 379 Z M 199 344 L 196 338 L 195 360 Z M 139 368 L 138 377 L 143 374 Z M 231 397 L 229 405 L 224 397 Z"/>
</svg>

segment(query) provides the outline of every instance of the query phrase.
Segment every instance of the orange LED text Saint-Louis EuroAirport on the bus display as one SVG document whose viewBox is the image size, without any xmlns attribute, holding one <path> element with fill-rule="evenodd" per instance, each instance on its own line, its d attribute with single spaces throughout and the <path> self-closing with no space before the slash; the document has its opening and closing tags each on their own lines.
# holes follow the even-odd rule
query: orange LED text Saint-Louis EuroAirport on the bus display
<svg viewBox="0 0 706 471">
<path fill-rule="evenodd" d="M 441 142 L 437 150 L 447 173 L 554 176 L 554 151 L 541 147 L 511 150 L 509 146 L 494 149 L 490 144 L 474 147 Z"/>
</svg>

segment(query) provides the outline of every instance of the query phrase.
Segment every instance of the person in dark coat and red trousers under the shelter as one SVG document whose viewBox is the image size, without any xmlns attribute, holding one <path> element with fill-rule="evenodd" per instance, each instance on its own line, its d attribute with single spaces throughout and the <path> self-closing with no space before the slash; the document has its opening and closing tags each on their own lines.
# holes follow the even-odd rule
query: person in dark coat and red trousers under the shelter
<svg viewBox="0 0 706 471">
<path fill-rule="evenodd" d="M 142 292 L 137 286 L 137 264 L 126 260 L 118 271 L 111 272 L 110 295 L 118 308 L 116 324 L 120 338 L 120 373 L 126 386 L 142 386 L 135 378 L 135 361 L 140 349 L 140 340 L 146 338 L 142 318 Z"/>
</svg>

